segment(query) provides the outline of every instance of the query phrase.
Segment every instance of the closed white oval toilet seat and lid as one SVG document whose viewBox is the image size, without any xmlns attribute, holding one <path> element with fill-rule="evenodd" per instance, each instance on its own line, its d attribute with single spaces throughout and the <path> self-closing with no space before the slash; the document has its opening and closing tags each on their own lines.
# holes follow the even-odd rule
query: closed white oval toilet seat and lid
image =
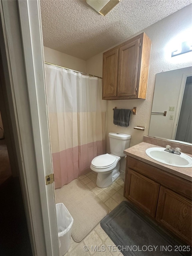
<svg viewBox="0 0 192 256">
<path fill-rule="evenodd" d="M 93 167 L 102 169 L 111 167 L 116 162 L 116 157 L 110 154 L 98 155 L 92 161 Z"/>
</svg>

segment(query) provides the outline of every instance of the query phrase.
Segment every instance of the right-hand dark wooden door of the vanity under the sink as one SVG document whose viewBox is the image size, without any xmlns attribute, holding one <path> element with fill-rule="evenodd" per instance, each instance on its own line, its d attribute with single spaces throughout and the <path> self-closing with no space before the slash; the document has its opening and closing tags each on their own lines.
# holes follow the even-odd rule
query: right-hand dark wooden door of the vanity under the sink
<svg viewBox="0 0 192 256">
<path fill-rule="evenodd" d="M 161 186 L 156 220 L 191 245 L 191 201 Z"/>
</svg>

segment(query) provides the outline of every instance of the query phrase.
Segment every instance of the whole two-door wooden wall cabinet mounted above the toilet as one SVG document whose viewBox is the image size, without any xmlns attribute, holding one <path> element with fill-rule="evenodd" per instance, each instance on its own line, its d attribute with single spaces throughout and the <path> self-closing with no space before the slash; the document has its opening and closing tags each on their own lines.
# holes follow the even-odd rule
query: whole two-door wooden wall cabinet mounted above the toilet
<svg viewBox="0 0 192 256">
<path fill-rule="evenodd" d="M 102 99 L 146 99 L 150 52 L 142 33 L 103 53 Z"/>
</svg>

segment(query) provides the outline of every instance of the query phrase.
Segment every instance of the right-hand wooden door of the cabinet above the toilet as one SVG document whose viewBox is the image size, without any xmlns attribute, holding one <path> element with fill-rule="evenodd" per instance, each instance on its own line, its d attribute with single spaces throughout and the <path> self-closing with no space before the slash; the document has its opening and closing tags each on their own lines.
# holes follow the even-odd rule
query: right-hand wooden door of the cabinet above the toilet
<svg viewBox="0 0 192 256">
<path fill-rule="evenodd" d="M 140 38 L 119 49 L 117 96 L 136 95 Z"/>
</svg>

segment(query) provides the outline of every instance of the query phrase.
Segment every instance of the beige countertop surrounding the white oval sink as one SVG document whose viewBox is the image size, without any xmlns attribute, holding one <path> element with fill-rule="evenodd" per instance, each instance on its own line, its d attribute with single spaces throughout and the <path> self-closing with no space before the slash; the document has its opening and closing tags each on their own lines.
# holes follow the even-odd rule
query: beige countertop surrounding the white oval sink
<svg viewBox="0 0 192 256">
<path fill-rule="evenodd" d="M 192 181 L 192 168 L 175 167 L 175 166 L 160 163 L 160 162 L 150 158 L 146 154 L 145 151 L 146 151 L 146 149 L 152 148 L 152 147 L 161 148 L 160 146 L 157 146 L 157 145 L 142 142 L 142 143 L 137 144 L 131 148 L 125 149 L 124 153 L 128 156 L 131 156 L 131 157 L 137 159 L 137 160 L 145 162 L 146 164 L 150 164 L 150 165 L 155 166 L 161 170 L 164 170 L 166 172 L 169 172 L 176 176 L 179 176 L 183 179 Z M 186 154 L 186 155 L 189 155 L 189 154 Z M 192 155 L 189 155 L 189 156 L 192 156 Z"/>
</svg>

